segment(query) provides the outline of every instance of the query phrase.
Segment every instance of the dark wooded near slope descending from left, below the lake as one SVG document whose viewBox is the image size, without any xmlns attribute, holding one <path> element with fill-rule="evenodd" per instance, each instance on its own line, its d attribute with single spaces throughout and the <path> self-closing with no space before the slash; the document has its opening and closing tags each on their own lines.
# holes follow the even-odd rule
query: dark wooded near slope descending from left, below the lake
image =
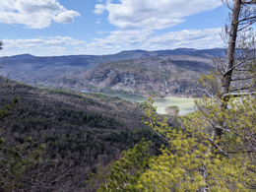
<svg viewBox="0 0 256 192">
<path fill-rule="evenodd" d="M 141 122 L 145 113 L 140 103 L 100 94 L 39 90 L 14 82 L 2 85 L 0 96 L 1 108 L 13 96 L 21 98 L 19 109 L 1 121 L 1 127 L 10 126 L 2 134 L 5 144 L 17 146 L 28 137 L 46 144 L 44 160 L 73 161 L 69 172 L 76 176 L 76 187 L 85 188 L 84 181 L 89 171 L 96 171 L 97 163 L 110 163 L 142 138 L 153 141 L 152 155 L 160 154 L 162 143 Z"/>
</svg>

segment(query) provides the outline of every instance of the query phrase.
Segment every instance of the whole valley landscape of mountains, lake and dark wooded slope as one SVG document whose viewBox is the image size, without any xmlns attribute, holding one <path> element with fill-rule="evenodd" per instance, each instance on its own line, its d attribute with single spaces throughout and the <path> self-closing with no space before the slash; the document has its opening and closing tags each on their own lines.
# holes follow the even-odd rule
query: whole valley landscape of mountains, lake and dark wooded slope
<svg viewBox="0 0 256 192">
<path fill-rule="evenodd" d="M 143 101 L 157 96 L 160 114 L 169 105 L 179 105 L 181 114 L 193 111 L 192 96 L 203 93 L 197 80 L 215 69 L 206 52 L 136 50 L 103 56 L 6 58 L 1 74 L 17 81 L 5 84 L 1 79 L 1 110 L 14 96 L 21 100 L 1 121 L 0 127 L 9 127 L 1 137 L 9 147 L 23 145 L 27 138 L 45 144 L 42 159 L 56 160 L 57 168 L 68 167 L 67 174 L 73 175 L 52 187 L 70 183 L 63 190 L 95 191 L 85 180 L 98 163 L 106 166 L 117 160 L 143 138 L 152 141 L 152 156 L 161 154 L 160 146 L 166 144 L 141 121 L 146 117 Z M 168 116 L 167 123 L 173 129 L 180 126 L 174 116 Z"/>
</svg>

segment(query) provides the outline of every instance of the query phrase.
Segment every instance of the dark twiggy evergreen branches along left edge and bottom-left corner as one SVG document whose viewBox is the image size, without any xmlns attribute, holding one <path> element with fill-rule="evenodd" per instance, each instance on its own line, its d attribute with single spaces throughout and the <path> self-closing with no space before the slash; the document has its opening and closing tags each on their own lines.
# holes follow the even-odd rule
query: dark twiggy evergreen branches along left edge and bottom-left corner
<svg viewBox="0 0 256 192">
<path fill-rule="evenodd" d="M 0 49 L 3 48 L 2 45 L 0 41 Z M 3 64 L 4 62 L 0 68 Z M 6 88 L 7 80 L 8 78 L 0 78 L 0 86 Z M 20 98 L 14 96 L 11 103 L 0 107 L 2 125 L 0 127 L 0 191 L 32 191 L 33 189 L 48 191 L 55 188 L 74 190 L 76 187 L 72 186 L 73 183 L 66 178 L 72 163 L 59 167 L 58 160 L 44 160 L 45 144 L 28 137 L 21 144 L 6 145 L 6 139 L 10 139 L 10 129 L 13 124 L 29 112 L 22 114 L 15 122 L 9 121 L 8 116 L 18 113 L 19 101 Z"/>
</svg>

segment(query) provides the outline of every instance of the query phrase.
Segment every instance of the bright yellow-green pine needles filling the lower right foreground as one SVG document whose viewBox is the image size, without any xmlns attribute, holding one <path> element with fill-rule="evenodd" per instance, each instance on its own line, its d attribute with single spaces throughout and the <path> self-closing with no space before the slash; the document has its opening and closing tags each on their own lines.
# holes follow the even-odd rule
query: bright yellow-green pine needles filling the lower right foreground
<svg viewBox="0 0 256 192">
<path fill-rule="evenodd" d="M 198 110 L 182 118 L 183 127 L 177 131 L 163 117 L 160 121 L 153 102 L 145 104 L 144 122 L 169 147 L 162 148 L 162 155 L 139 178 L 142 191 L 255 191 L 255 156 L 244 151 L 245 137 L 256 131 L 256 99 L 231 99 L 227 109 L 220 108 L 219 100 L 197 99 Z M 214 140 L 212 126 L 223 122 L 228 131 Z"/>
</svg>

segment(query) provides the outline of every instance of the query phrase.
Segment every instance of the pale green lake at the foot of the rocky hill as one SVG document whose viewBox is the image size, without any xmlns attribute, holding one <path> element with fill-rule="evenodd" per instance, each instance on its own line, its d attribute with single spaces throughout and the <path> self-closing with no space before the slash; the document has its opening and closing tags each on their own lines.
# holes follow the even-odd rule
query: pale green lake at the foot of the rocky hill
<svg viewBox="0 0 256 192">
<path fill-rule="evenodd" d="M 82 93 L 92 93 L 89 91 L 81 91 Z M 144 102 L 148 100 L 148 97 L 145 96 L 135 96 L 135 95 L 127 95 L 127 94 L 118 94 L 118 93 L 104 93 L 106 96 L 118 96 L 122 99 L 134 101 L 134 102 Z M 160 114 L 164 114 L 165 106 L 177 105 L 179 107 L 179 114 L 184 114 L 188 112 L 194 111 L 194 98 L 185 98 L 185 97 L 174 97 L 174 96 L 165 96 L 160 98 L 155 98 L 154 106 L 158 106 L 157 112 Z"/>
</svg>

